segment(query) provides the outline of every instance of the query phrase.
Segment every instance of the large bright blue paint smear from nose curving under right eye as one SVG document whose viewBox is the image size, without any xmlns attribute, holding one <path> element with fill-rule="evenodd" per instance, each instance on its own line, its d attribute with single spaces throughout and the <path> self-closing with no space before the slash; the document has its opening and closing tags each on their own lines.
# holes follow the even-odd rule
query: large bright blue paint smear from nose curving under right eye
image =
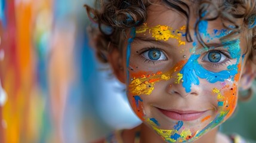
<svg viewBox="0 0 256 143">
<path fill-rule="evenodd" d="M 210 83 L 215 82 L 224 82 L 224 80 L 233 77 L 235 74 L 238 73 L 238 63 L 240 59 L 240 48 L 239 48 L 240 41 L 233 41 L 233 43 L 229 43 L 228 46 L 224 48 L 229 48 L 230 56 L 232 58 L 237 58 L 236 64 L 227 66 L 227 70 L 220 71 L 218 73 L 209 71 L 204 69 L 201 64 L 198 63 L 198 55 L 191 55 L 183 69 L 181 69 L 180 73 L 183 74 L 183 87 L 186 89 L 186 92 L 191 91 L 192 83 L 194 85 L 199 85 L 199 79 L 206 79 Z"/>
</svg>

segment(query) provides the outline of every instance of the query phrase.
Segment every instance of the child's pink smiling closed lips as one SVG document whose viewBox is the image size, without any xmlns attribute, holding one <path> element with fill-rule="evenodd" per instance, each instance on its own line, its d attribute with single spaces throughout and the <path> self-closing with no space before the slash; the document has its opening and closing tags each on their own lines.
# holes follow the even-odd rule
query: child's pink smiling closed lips
<svg viewBox="0 0 256 143">
<path fill-rule="evenodd" d="M 161 113 L 165 116 L 169 117 L 170 119 L 174 120 L 183 120 L 183 121 L 192 121 L 199 119 L 202 115 L 207 111 L 180 111 L 180 110 L 164 110 L 158 108 Z"/>
</svg>

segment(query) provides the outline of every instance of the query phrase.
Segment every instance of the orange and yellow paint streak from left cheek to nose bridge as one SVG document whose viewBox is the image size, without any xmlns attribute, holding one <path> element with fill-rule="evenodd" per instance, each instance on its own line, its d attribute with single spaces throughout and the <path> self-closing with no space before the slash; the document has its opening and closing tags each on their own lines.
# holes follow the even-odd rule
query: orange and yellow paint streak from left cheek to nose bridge
<svg viewBox="0 0 256 143">
<path fill-rule="evenodd" d="M 172 74 L 175 71 L 180 71 L 181 68 L 186 63 L 186 60 L 182 60 L 175 64 L 175 66 L 165 72 L 162 73 L 158 71 L 156 73 L 144 74 L 145 71 L 139 71 L 137 73 L 131 73 L 132 77 L 131 83 L 129 83 L 129 93 L 132 95 L 149 95 L 152 93 L 155 83 L 160 82 L 161 80 L 169 80 L 172 77 Z"/>
</svg>

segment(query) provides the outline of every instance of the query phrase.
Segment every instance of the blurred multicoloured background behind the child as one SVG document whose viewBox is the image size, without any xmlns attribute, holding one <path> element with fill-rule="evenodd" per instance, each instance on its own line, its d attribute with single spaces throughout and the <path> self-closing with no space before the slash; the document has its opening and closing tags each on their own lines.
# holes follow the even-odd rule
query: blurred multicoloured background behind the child
<svg viewBox="0 0 256 143">
<path fill-rule="evenodd" d="M 88 44 L 93 3 L 0 0 L 0 142 L 90 142 L 140 124 Z M 255 102 L 239 102 L 221 130 L 256 141 Z"/>
</svg>

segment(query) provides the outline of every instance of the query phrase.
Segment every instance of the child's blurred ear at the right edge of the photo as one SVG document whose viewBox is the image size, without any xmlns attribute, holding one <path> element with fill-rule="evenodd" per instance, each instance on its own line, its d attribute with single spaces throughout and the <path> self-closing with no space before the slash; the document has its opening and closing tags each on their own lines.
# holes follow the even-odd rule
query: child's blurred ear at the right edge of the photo
<svg viewBox="0 0 256 143">
<path fill-rule="evenodd" d="M 251 88 L 252 82 L 256 76 L 256 65 L 251 60 L 246 61 L 242 76 L 239 82 L 239 88 L 247 90 Z"/>
</svg>

